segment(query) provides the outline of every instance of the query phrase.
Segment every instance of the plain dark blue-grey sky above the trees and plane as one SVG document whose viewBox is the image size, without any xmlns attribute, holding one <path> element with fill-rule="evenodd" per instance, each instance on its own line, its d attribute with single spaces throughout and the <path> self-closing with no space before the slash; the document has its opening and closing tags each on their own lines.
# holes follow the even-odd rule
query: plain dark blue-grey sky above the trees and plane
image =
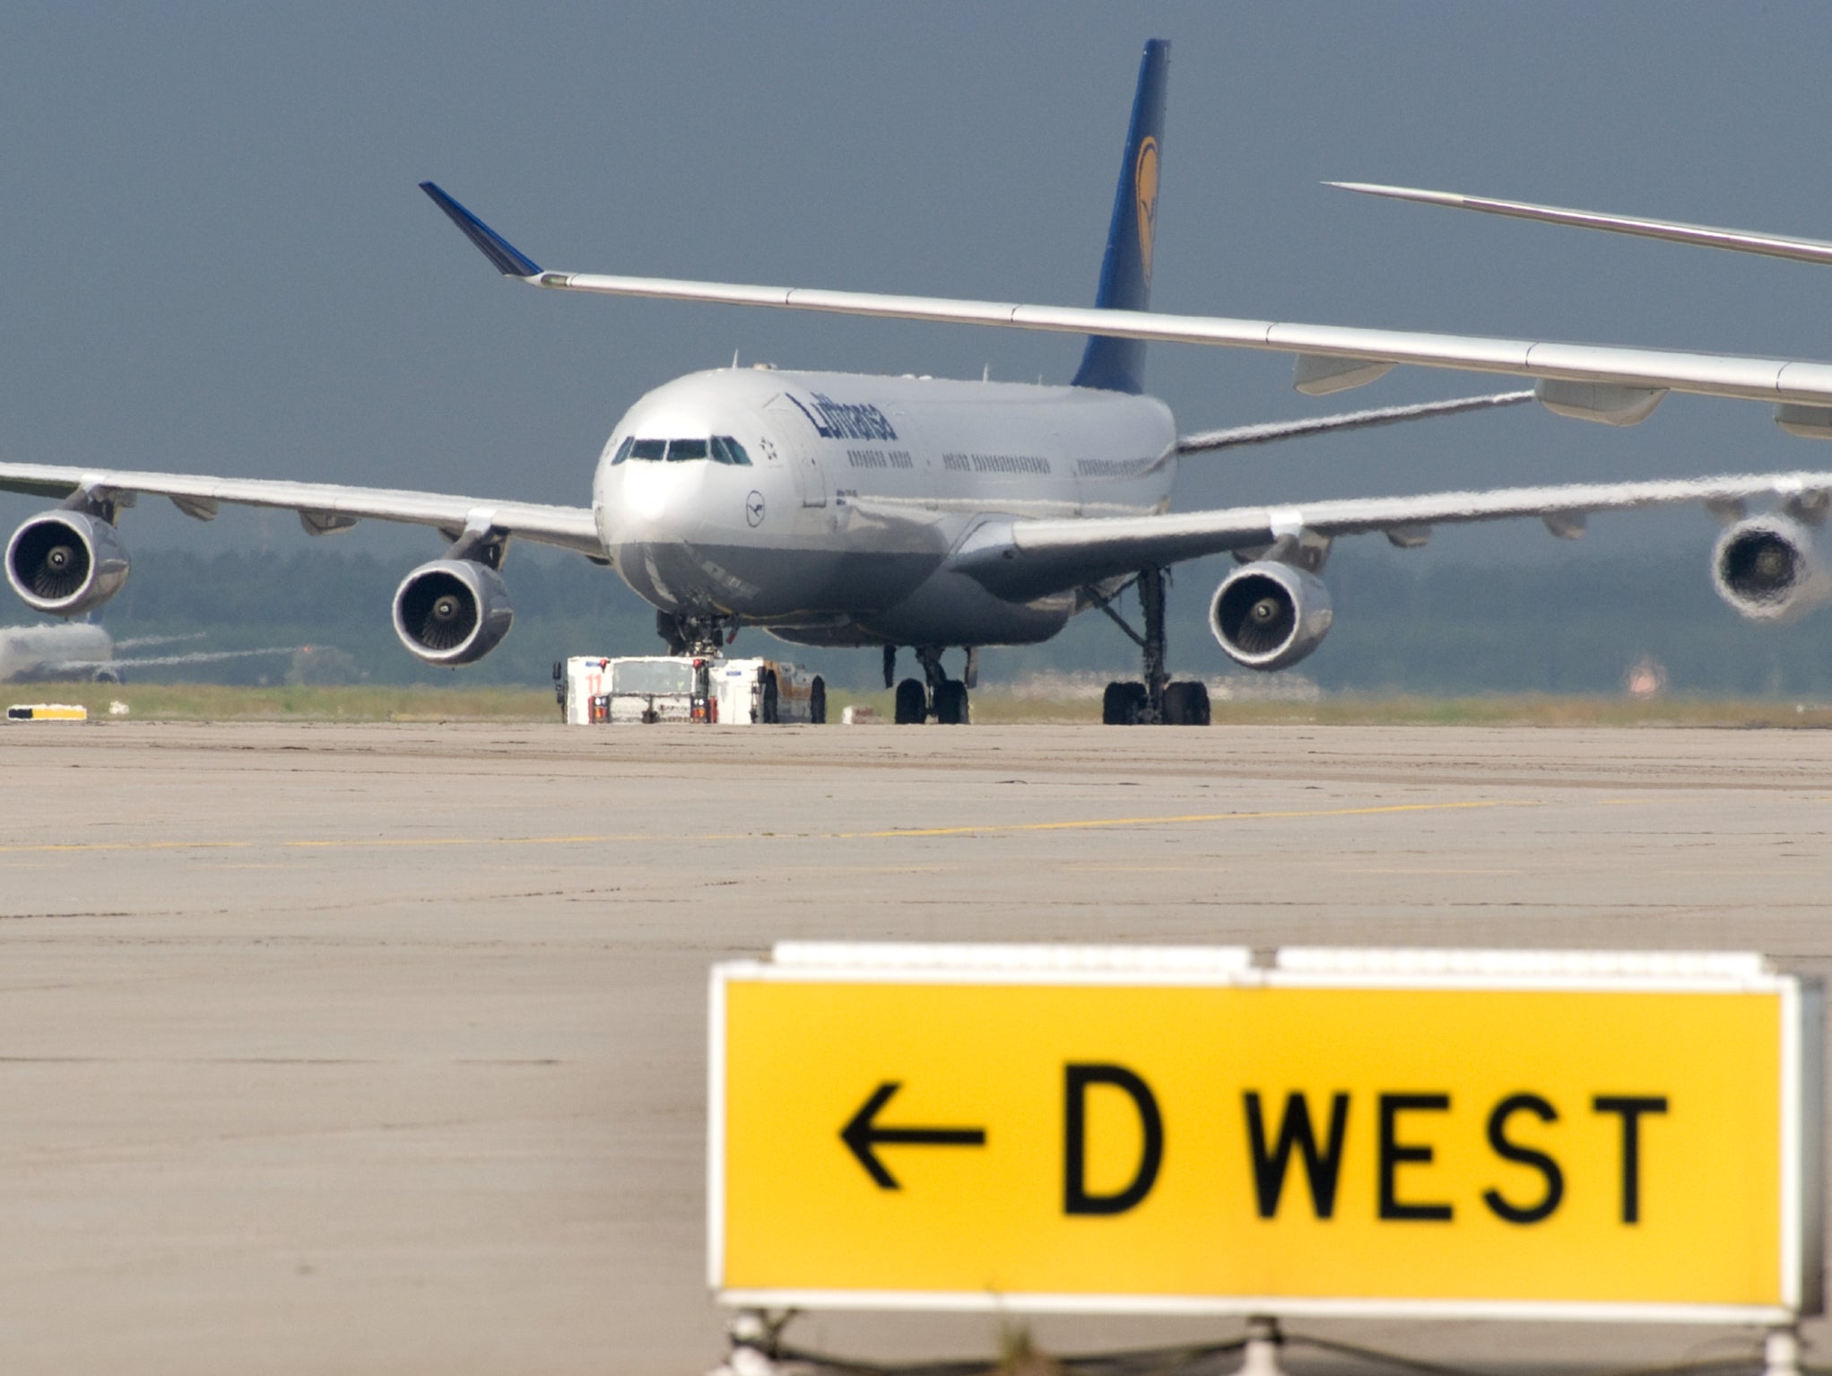
<svg viewBox="0 0 1832 1376">
<path fill-rule="evenodd" d="M 583 502 L 643 390 L 742 359 L 1064 379 L 1059 337 L 504 284 L 434 178 L 544 266 L 1083 302 L 1147 37 L 1172 38 L 1154 306 L 1832 357 L 1832 275 L 1379 203 L 1405 181 L 1832 235 L 1806 4 L 66 5 L 0 11 L 0 453 Z M 1185 429 L 1489 390 L 1156 348 Z M 1502 416 L 1185 471 L 1180 506 L 1832 467 L 1762 407 Z M 29 513 L 0 498 L 7 526 Z M 148 502 L 139 544 L 304 535 Z M 1444 531 L 1438 557 L 1594 557 Z M 423 531 L 368 533 L 414 551 Z M 1431 557 L 1431 555 L 1425 555 Z"/>
</svg>

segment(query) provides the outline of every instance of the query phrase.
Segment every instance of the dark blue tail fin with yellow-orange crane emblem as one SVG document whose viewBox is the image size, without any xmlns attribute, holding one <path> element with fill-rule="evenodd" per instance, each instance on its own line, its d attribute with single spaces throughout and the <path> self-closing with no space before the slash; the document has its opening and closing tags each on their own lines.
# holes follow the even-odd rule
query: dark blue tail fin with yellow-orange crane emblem
<svg viewBox="0 0 1832 1376">
<path fill-rule="evenodd" d="M 1150 308 L 1150 255 L 1158 236 L 1158 169 L 1163 154 L 1163 106 L 1171 79 L 1171 42 L 1152 38 L 1140 59 L 1132 126 L 1119 163 L 1114 222 L 1107 231 L 1101 288 L 1094 304 L 1107 310 Z M 1075 387 L 1107 392 L 1145 390 L 1145 341 L 1090 335 L 1075 370 Z"/>
</svg>

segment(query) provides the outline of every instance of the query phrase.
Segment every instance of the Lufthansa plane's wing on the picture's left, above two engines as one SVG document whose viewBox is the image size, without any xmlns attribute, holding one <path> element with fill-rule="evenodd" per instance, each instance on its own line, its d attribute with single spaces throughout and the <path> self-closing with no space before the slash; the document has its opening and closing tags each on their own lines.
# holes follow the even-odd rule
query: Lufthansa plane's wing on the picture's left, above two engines
<svg viewBox="0 0 1832 1376">
<path fill-rule="evenodd" d="M 392 487 L 344 487 L 328 482 L 273 482 L 262 478 L 211 478 L 185 473 L 136 473 L 130 469 L 79 469 L 49 464 L 0 464 L 0 491 L 66 498 L 86 491 L 92 498 L 130 504 L 139 493 L 169 497 L 189 517 L 211 520 L 222 502 L 297 511 L 313 535 L 346 530 L 357 520 L 398 520 L 434 526 L 456 541 L 465 530 L 553 544 L 592 559 L 605 548 L 590 508 L 537 506 L 533 502 L 487 502 L 476 497 L 412 493 Z"/>
</svg>

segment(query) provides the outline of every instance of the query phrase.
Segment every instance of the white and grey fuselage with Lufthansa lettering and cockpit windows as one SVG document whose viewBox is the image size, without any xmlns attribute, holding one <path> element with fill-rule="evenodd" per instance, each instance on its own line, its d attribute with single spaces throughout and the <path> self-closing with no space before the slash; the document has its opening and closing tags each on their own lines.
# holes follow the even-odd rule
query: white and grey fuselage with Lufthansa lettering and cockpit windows
<svg viewBox="0 0 1832 1376">
<path fill-rule="evenodd" d="M 592 509 L 619 575 L 665 612 L 824 645 L 1031 643 L 1075 594 L 1009 603 L 949 553 L 995 517 L 1163 511 L 1174 445 L 1147 396 L 725 368 L 630 407 Z"/>
</svg>

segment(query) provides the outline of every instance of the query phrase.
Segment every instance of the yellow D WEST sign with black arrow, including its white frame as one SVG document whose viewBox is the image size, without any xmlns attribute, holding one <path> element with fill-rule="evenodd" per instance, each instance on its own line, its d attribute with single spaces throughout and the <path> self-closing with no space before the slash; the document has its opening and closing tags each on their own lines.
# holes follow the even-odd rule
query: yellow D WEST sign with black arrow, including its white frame
<svg viewBox="0 0 1832 1376">
<path fill-rule="evenodd" d="M 1817 1312 L 1816 984 L 1753 956 L 1405 960 L 784 945 L 720 966 L 713 1288 Z"/>
</svg>

